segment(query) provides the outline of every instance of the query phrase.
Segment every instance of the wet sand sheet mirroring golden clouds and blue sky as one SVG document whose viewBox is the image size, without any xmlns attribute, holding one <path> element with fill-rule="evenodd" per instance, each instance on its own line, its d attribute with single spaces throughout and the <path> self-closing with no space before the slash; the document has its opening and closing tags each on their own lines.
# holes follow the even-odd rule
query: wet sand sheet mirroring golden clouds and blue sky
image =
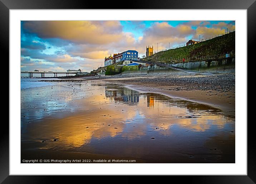
<svg viewBox="0 0 256 184">
<path fill-rule="evenodd" d="M 129 157 L 147 163 L 235 162 L 235 118 L 219 109 L 113 83 L 88 82 L 74 90 L 72 85 L 53 87 L 50 99 L 43 93 L 41 104 L 35 95 L 31 106 L 21 91 L 22 149 Z M 63 91 L 68 97 L 61 98 Z M 33 97 L 39 92 L 26 93 Z M 60 107 L 47 105 L 53 102 Z M 39 111 L 40 118 L 30 117 L 33 111 Z M 222 150 L 223 145 L 228 151 Z"/>
</svg>

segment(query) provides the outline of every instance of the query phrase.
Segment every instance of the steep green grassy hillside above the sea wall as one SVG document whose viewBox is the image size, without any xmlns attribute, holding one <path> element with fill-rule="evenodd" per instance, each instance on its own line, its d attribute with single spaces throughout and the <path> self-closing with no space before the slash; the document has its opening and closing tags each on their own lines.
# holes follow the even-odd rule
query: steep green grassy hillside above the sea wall
<svg viewBox="0 0 256 184">
<path fill-rule="evenodd" d="M 202 56 L 223 55 L 227 52 L 235 53 L 235 31 L 198 44 L 161 51 L 143 60 L 180 62 L 182 58 L 190 60 L 191 58 Z"/>
</svg>

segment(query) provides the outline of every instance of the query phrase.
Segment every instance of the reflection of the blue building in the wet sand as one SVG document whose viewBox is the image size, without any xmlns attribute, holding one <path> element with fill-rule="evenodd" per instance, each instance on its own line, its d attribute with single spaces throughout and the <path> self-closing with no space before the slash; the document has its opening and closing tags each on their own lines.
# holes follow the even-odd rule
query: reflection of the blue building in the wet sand
<svg viewBox="0 0 256 184">
<path fill-rule="evenodd" d="M 139 102 L 139 94 L 128 88 L 105 88 L 106 97 L 114 99 L 115 102 L 125 102 L 129 104 L 137 104 Z"/>
</svg>

